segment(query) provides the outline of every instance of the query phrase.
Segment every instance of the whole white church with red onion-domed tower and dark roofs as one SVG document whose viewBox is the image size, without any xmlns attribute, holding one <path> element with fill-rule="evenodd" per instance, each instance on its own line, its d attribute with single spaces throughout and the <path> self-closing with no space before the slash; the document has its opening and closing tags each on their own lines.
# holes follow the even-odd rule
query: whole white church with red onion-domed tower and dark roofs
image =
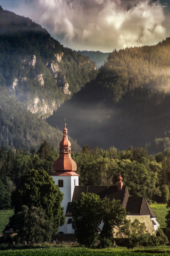
<svg viewBox="0 0 170 256">
<path fill-rule="evenodd" d="M 123 186 L 121 174 L 119 174 L 117 186 L 79 186 L 79 175 L 76 173 L 77 165 L 71 157 L 71 143 L 68 140 L 66 124 L 63 129 L 63 139 L 60 142 L 59 158 L 53 165 L 54 173 L 51 177 L 64 194 L 61 206 L 64 208 L 65 224 L 60 227 L 59 233 L 74 234 L 72 228 L 72 212 L 70 206 L 72 200 L 79 200 L 80 194 L 84 192 L 99 195 L 101 199 L 120 200 L 122 208 L 128 212 L 127 219 L 134 221 L 138 219 L 145 223 L 146 229 L 154 234 L 159 226 L 156 215 L 152 211 L 145 197 L 129 196 L 128 187 Z M 98 227 L 103 228 L 103 222 Z"/>
</svg>

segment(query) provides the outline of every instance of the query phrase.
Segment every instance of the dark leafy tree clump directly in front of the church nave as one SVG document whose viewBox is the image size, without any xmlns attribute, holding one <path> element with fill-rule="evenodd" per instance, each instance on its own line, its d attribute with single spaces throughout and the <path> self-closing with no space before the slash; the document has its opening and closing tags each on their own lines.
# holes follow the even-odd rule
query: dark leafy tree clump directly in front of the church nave
<svg viewBox="0 0 170 256">
<path fill-rule="evenodd" d="M 93 246 L 98 237 L 97 226 L 104 221 L 101 245 L 113 244 L 113 228 L 123 224 L 126 210 L 119 201 L 101 200 L 93 193 L 81 193 L 79 201 L 72 202 L 72 227 L 80 244 Z"/>
</svg>

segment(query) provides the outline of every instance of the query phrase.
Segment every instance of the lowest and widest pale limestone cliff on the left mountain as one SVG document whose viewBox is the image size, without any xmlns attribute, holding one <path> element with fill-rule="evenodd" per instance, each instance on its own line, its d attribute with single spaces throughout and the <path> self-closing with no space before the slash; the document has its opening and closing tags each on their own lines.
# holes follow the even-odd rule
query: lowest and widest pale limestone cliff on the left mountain
<svg viewBox="0 0 170 256">
<path fill-rule="evenodd" d="M 43 98 L 35 97 L 28 104 L 27 109 L 38 116 L 42 116 L 43 119 L 52 115 L 53 111 L 57 110 L 57 104 L 55 101 L 45 102 Z"/>
</svg>

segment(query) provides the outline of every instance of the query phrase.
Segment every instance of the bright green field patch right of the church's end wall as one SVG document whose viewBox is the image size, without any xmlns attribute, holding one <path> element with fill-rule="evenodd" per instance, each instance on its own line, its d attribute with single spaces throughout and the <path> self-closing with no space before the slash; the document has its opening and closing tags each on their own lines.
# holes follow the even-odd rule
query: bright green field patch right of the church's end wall
<svg viewBox="0 0 170 256">
<path fill-rule="evenodd" d="M 165 216 L 168 213 L 168 209 L 166 208 L 166 204 L 151 204 L 150 207 L 157 215 L 157 221 L 160 223 L 161 228 L 166 228 L 166 218 Z"/>
</svg>

